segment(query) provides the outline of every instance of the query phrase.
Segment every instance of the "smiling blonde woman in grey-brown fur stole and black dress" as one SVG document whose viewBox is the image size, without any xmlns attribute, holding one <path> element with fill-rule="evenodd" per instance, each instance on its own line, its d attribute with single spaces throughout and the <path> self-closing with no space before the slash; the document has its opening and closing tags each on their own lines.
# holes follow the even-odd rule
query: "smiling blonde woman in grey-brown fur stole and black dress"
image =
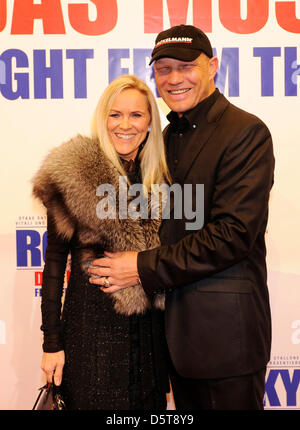
<svg viewBox="0 0 300 430">
<path fill-rule="evenodd" d="M 166 406 L 163 298 L 150 303 L 138 280 L 135 288 L 104 294 L 89 282 L 87 269 L 104 250 L 158 245 L 160 220 L 124 216 L 119 185 L 122 196 L 124 186 L 139 183 L 149 193 L 151 184 L 168 178 L 155 98 L 134 76 L 121 76 L 106 88 L 92 138 L 77 136 L 52 150 L 34 178 L 33 194 L 48 218 L 42 369 L 48 381 L 54 375 L 61 383 L 69 409 Z M 101 194 L 101 185 L 111 187 L 109 196 Z M 61 313 L 69 252 L 71 275 Z"/>
</svg>

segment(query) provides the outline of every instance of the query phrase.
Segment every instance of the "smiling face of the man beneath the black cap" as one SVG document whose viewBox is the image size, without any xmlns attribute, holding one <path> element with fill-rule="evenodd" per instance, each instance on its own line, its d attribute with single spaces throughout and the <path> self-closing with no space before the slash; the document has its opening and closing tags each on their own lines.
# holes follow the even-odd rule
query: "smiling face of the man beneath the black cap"
<svg viewBox="0 0 300 430">
<path fill-rule="evenodd" d="M 216 57 L 201 54 L 194 61 L 160 58 L 154 64 L 157 89 L 169 108 L 181 116 L 215 90 Z"/>
</svg>

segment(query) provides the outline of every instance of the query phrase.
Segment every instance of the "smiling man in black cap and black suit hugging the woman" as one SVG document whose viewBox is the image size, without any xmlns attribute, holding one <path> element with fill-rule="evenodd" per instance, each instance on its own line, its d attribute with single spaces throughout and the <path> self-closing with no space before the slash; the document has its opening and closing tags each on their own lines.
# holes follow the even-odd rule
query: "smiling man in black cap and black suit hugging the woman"
<svg viewBox="0 0 300 430">
<path fill-rule="evenodd" d="M 204 184 L 204 225 L 187 230 L 185 214 L 164 220 L 161 247 L 96 260 L 102 267 L 91 273 L 103 278 L 92 282 L 110 293 L 139 278 L 150 296 L 166 293 L 177 409 L 263 409 L 271 343 L 264 240 L 274 171 L 270 132 L 215 88 L 218 61 L 201 30 L 161 32 L 152 62 L 171 109 L 171 176 L 183 192 L 184 184 Z"/>
</svg>

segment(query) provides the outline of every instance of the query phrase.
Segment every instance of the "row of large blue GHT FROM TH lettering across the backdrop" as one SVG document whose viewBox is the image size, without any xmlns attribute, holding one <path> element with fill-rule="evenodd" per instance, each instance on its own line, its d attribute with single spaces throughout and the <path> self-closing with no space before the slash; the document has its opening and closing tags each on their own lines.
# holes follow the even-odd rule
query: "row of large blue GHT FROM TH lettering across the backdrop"
<svg viewBox="0 0 300 430">
<path fill-rule="evenodd" d="M 134 73 L 144 79 L 153 93 L 159 96 L 153 67 L 149 66 L 151 49 L 108 49 L 109 82 L 117 76 Z M 216 53 L 216 51 L 215 51 Z M 49 59 L 47 58 L 49 56 Z M 274 61 L 282 56 L 280 47 L 253 48 L 253 56 L 260 58 L 261 96 L 274 96 Z M 8 49 L 0 55 L 0 93 L 8 100 L 61 99 L 64 97 L 64 59 L 73 60 L 74 98 L 87 98 L 87 60 L 94 58 L 93 49 L 33 50 L 33 66 L 25 52 Z M 228 96 L 240 95 L 239 48 L 223 48 L 219 53 L 220 65 L 216 75 L 216 86 L 221 92 L 228 89 Z M 124 66 L 124 62 L 127 63 Z M 122 64 L 123 63 L 123 64 Z M 18 69 L 23 69 L 22 71 Z M 24 71 L 24 69 L 28 69 Z M 30 73 L 33 73 L 33 79 Z M 284 48 L 285 96 L 297 96 L 300 64 L 297 63 L 297 47 Z M 47 94 L 50 81 L 50 94 Z M 33 90 L 30 88 L 33 82 Z M 276 82 L 277 84 L 277 82 Z M 228 88 L 226 88 L 226 86 Z"/>
</svg>

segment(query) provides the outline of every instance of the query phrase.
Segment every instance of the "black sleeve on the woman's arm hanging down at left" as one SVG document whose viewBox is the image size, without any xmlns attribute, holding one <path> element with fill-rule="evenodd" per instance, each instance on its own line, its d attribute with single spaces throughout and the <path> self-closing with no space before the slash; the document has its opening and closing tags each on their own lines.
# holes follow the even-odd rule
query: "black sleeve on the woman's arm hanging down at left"
<svg viewBox="0 0 300 430">
<path fill-rule="evenodd" d="M 58 235 L 54 221 L 47 213 L 47 249 L 42 283 L 42 326 L 44 352 L 63 349 L 61 307 L 69 242 Z"/>
</svg>

